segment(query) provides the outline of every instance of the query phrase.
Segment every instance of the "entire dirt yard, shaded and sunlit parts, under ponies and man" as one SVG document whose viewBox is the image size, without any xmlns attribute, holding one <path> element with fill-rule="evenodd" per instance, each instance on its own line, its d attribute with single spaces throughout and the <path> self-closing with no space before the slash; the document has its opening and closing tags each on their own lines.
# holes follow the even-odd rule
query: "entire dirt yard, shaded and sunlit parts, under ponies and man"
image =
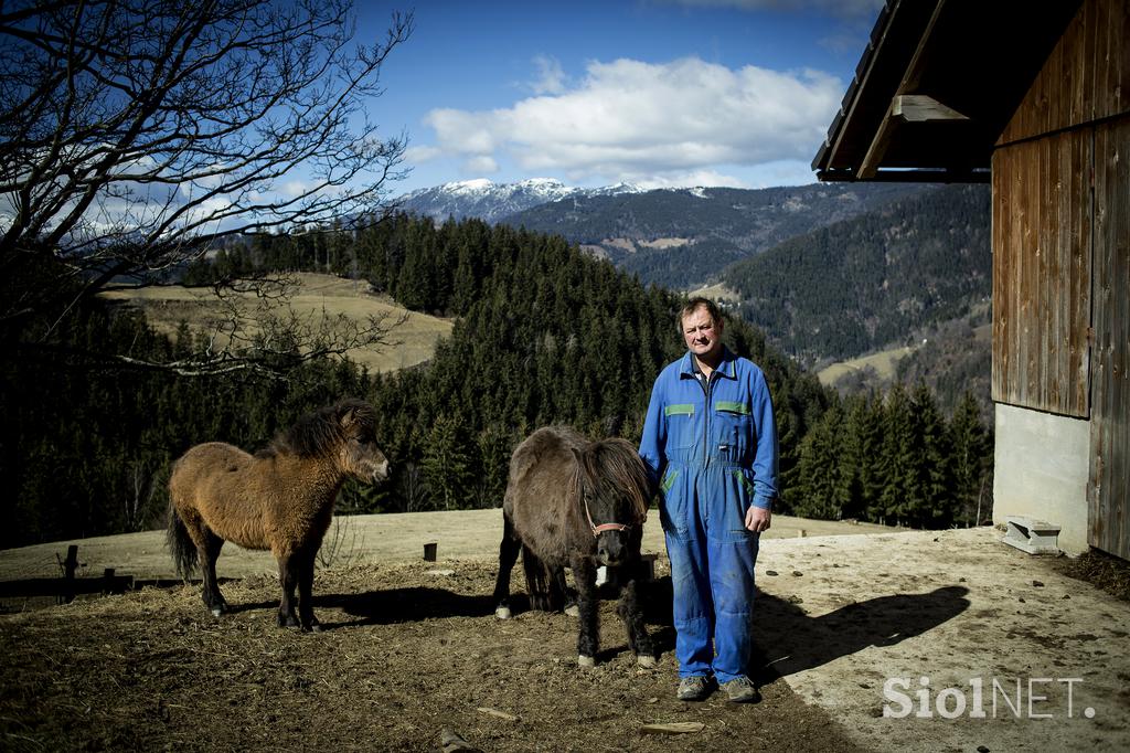
<svg viewBox="0 0 1130 753">
<path fill-rule="evenodd" d="M 775 519 L 758 559 L 751 672 L 762 701 L 734 707 L 718 694 L 673 698 L 663 556 L 647 594 L 654 669 L 636 667 L 612 600 L 594 669 L 576 666 L 565 615 L 496 621 L 496 517 L 353 521 L 314 586 L 320 634 L 273 626 L 272 563 L 234 547 L 220 575 L 235 579 L 224 588 L 236 612 L 220 620 L 198 586 L 47 608 L 7 599 L 0 748 L 434 751 L 445 730 L 483 751 L 1130 748 L 1130 603 L 1068 577 L 1062 560 L 1001 544 L 991 528 Z M 644 551 L 661 553 L 649 528 Z M 421 560 L 427 542 L 438 542 L 437 562 Z M 169 572 L 158 534 L 78 544 L 92 575 Z M 0 552 L 0 580 L 32 577 L 35 563 L 56 569 L 53 552 L 64 549 Z M 894 686 L 904 716 L 892 681 L 904 683 Z M 702 726 L 647 732 L 672 722 Z"/>
</svg>

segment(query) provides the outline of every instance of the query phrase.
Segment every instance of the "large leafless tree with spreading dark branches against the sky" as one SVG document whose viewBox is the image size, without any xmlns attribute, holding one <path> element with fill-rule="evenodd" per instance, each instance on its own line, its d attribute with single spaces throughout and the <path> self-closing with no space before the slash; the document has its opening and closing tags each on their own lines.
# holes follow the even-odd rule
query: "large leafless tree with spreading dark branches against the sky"
<svg viewBox="0 0 1130 753">
<path fill-rule="evenodd" d="M 356 44 L 348 0 L 0 3 L 3 339 L 227 237 L 379 215 L 406 140 L 366 104 L 411 28 Z"/>
</svg>

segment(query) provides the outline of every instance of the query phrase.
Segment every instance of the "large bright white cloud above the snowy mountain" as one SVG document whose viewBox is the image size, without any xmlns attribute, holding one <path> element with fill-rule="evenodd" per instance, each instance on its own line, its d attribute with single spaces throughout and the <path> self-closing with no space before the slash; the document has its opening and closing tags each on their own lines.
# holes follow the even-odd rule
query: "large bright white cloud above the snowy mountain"
<svg viewBox="0 0 1130 753">
<path fill-rule="evenodd" d="M 527 171 L 608 182 L 724 180 L 721 165 L 810 159 L 842 94 L 838 79 L 817 70 L 616 60 L 591 62 L 557 95 L 493 111 L 434 110 L 425 122 L 437 148 L 467 164 L 497 167 L 508 157 Z"/>
</svg>

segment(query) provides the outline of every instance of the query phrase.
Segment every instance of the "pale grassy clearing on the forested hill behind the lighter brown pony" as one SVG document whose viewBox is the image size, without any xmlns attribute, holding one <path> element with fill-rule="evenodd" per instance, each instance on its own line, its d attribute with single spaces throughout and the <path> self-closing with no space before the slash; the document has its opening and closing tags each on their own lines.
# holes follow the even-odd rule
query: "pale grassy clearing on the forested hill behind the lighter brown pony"
<svg viewBox="0 0 1130 753">
<path fill-rule="evenodd" d="M 298 272 L 293 277 L 297 280 L 297 286 L 286 305 L 304 319 L 319 321 L 322 318 L 337 318 L 344 314 L 354 320 L 366 320 L 368 317 L 383 318 L 391 324 L 400 317 L 407 315 L 407 319 L 390 334 L 395 345 L 383 350 L 355 348 L 348 352 L 349 358 L 368 366 L 370 371 L 394 371 L 423 363 L 435 353 L 435 345 L 440 338 L 451 334 L 451 321 L 407 312 L 388 296 L 371 293 L 368 284 L 364 280 L 349 280 L 312 272 Z M 181 321 L 188 322 L 193 330 L 212 332 L 225 318 L 224 304 L 208 287 L 171 286 L 110 291 L 104 293 L 103 297 L 139 308 L 146 319 L 166 335 L 174 334 Z M 246 304 L 249 306 L 255 304 L 250 294 L 246 296 Z M 285 313 L 285 309 L 278 309 L 277 313 Z M 253 328 L 250 329 L 254 331 Z M 219 345 L 225 344 L 220 339 Z"/>
</svg>

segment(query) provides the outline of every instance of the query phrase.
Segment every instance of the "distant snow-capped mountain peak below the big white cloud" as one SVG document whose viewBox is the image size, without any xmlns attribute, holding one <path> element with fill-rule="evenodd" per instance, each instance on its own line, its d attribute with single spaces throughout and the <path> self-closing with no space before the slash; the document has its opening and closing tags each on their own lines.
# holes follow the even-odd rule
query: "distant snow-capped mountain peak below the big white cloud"
<svg viewBox="0 0 1130 753">
<path fill-rule="evenodd" d="M 550 178 L 533 178 L 518 183 L 478 179 L 418 189 L 397 199 L 397 204 L 405 211 L 432 217 L 436 222 L 447 217 L 478 217 L 493 224 L 508 215 L 560 199 L 641 192 L 643 189 L 627 183 L 580 189 Z"/>
</svg>

